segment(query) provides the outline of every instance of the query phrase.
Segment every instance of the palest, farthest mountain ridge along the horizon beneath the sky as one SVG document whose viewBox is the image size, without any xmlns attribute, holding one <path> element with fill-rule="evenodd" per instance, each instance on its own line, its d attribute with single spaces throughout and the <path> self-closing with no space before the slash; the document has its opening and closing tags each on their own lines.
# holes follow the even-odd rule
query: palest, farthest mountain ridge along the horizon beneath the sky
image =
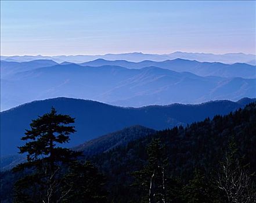
<svg viewBox="0 0 256 203">
<path fill-rule="evenodd" d="M 164 61 L 172 59 L 188 59 L 197 61 L 208 61 L 208 62 L 222 62 L 222 63 L 247 63 L 248 61 L 255 60 L 255 55 L 244 54 L 244 53 L 226 53 L 223 55 L 217 55 L 212 53 L 188 53 L 188 52 L 173 52 L 169 54 L 149 54 L 141 52 L 133 53 L 119 53 L 119 54 L 106 54 L 106 55 L 76 55 L 76 56 L 1 56 L 1 60 L 9 61 L 29 61 L 35 59 L 52 59 L 57 63 L 64 61 L 83 63 L 85 61 L 91 61 L 95 59 L 106 59 L 106 60 L 128 60 L 128 61 Z"/>
</svg>

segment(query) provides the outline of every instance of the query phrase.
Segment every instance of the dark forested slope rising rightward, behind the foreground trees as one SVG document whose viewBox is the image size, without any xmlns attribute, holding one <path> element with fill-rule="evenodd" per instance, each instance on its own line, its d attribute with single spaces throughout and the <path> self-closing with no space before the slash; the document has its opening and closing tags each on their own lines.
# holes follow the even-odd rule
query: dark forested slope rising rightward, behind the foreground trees
<svg viewBox="0 0 256 203">
<path fill-rule="evenodd" d="M 178 196 L 181 193 L 177 192 L 177 187 L 178 191 L 181 191 L 182 187 L 192 180 L 195 170 L 200 171 L 205 177 L 204 182 L 207 183 L 208 180 L 209 184 L 216 184 L 212 180 L 218 179 L 216 173 L 221 171 L 220 162 L 224 160 L 228 143 L 232 139 L 238 148 L 237 153 L 243 157 L 243 163 L 250 166 L 249 173 L 255 173 L 255 123 L 256 103 L 251 103 L 243 110 L 224 117 L 215 116 L 212 120 L 205 119 L 186 128 L 167 129 L 143 137 L 128 143 L 127 146 L 96 155 L 91 161 L 107 176 L 110 200 L 114 198 L 116 202 L 139 202 L 140 194 L 136 194 L 138 189 L 131 187 L 131 172 L 139 171 L 147 164 L 148 144 L 152 139 L 160 139 L 161 144 L 165 146 L 163 158 L 167 158 L 168 162 L 164 174 L 172 178 L 169 184 L 174 190 L 173 193 Z M 251 179 L 255 183 L 253 176 Z"/>
</svg>

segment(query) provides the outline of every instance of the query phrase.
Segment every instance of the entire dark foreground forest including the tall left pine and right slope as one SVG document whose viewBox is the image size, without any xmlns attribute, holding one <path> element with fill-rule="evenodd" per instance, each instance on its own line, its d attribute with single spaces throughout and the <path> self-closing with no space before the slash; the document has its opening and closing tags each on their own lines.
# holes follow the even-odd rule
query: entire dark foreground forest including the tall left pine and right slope
<svg viewBox="0 0 256 203">
<path fill-rule="evenodd" d="M 27 161 L 1 172 L 1 202 L 256 201 L 255 102 L 93 153 L 62 147 L 74 122 L 53 107 L 31 121 Z"/>
</svg>

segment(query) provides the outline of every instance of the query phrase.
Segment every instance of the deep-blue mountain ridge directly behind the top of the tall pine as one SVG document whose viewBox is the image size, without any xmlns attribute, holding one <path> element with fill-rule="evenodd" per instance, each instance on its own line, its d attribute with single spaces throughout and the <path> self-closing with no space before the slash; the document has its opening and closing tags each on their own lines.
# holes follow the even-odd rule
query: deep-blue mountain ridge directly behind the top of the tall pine
<svg viewBox="0 0 256 203">
<path fill-rule="evenodd" d="M 160 130 L 190 124 L 205 117 L 228 114 L 254 100 L 247 99 L 242 103 L 221 100 L 197 105 L 171 104 L 140 108 L 116 107 L 64 97 L 35 101 L 1 112 L 1 155 L 17 153 L 17 146 L 24 143 L 20 137 L 24 135 L 25 129 L 29 129 L 31 119 L 49 112 L 52 106 L 58 113 L 75 118 L 77 132 L 71 135 L 71 141 L 66 145 L 72 147 L 132 125 Z"/>
</svg>

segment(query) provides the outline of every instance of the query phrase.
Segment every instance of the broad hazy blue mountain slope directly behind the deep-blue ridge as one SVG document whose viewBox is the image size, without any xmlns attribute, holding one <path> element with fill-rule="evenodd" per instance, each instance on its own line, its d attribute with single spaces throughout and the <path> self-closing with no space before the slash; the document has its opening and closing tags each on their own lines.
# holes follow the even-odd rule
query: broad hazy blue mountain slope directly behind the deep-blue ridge
<svg viewBox="0 0 256 203">
<path fill-rule="evenodd" d="M 256 96 L 256 79 L 199 77 L 158 67 L 135 70 L 120 66 L 58 64 L 1 80 L 1 110 L 60 96 L 133 107 L 239 100 Z"/>
</svg>

